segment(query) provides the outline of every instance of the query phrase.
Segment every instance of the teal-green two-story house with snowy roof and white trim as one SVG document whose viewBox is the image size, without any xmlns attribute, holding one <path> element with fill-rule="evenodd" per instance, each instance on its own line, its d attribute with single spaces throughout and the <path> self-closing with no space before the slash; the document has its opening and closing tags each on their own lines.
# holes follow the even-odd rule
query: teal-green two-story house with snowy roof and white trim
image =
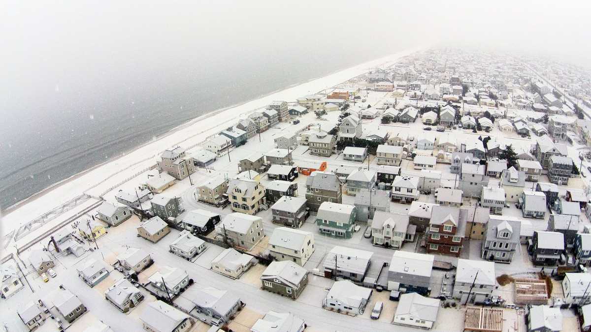
<svg viewBox="0 0 591 332">
<path fill-rule="evenodd" d="M 325 201 L 320 204 L 316 214 L 316 224 L 322 235 L 345 237 L 353 236 L 357 208 L 340 203 Z"/>
</svg>

